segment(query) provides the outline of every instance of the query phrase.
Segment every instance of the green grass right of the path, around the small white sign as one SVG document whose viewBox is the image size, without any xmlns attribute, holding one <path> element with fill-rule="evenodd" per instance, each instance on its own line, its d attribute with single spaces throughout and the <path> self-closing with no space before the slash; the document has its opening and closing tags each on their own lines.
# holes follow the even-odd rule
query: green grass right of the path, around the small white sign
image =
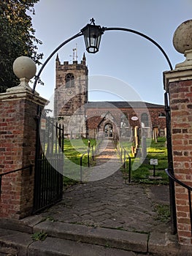
<svg viewBox="0 0 192 256">
<path fill-rule="evenodd" d="M 125 142 L 123 143 L 131 156 L 131 143 L 127 143 L 127 145 Z M 139 158 L 131 157 L 131 181 L 142 184 L 169 184 L 169 178 L 164 171 L 168 166 L 166 138 L 158 138 L 157 143 L 154 140 L 147 139 L 147 159 L 147 163 L 141 163 Z M 155 165 L 155 176 L 161 176 L 159 180 L 149 178 L 153 176 L 153 165 L 150 165 L 150 159 L 158 159 L 158 165 Z M 126 163 L 126 166 L 128 166 L 128 163 Z M 127 179 L 128 167 L 126 170 L 122 169 L 122 171 L 123 177 Z"/>
</svg>

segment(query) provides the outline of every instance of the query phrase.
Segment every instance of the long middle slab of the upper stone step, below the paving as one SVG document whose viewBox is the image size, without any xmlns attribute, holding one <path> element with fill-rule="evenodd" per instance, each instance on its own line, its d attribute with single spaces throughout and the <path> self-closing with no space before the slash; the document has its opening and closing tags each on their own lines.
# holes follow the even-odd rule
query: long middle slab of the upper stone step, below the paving
<svg viewBox="0 0 192 256">
<path fill-rule="evenodd" d="M 148 234 L 103 227 L 87 227 L 64 222 L 51 222 L 49 220 L 34 226 L 34 233 L 42 231 L 55 238 L 97 244 L 99 246 L 110 246 L 110 248 L 134 252 L 147 252 Z"/>
</svg>

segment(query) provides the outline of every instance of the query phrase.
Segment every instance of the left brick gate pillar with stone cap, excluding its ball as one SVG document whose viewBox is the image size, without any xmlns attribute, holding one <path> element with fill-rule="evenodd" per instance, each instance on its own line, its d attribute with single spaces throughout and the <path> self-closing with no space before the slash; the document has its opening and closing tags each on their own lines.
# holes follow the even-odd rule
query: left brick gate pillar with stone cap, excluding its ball
<svg viewBox="0 0 192 256">
<path fill-rule="evenodd" d="M 2 176 L 0 217 L 20 219 L 31 214 L 34 195 L 37 105 L 46 99 L 32 94 L 25 78 L 0 94 L 0 173 L 27 165 L 29 169 Z"/>
</svg>

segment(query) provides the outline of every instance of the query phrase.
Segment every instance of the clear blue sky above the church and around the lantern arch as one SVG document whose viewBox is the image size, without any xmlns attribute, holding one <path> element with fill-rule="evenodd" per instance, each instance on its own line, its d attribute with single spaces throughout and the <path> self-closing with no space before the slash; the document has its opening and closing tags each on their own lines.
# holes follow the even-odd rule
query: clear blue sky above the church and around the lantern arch
<svg viewBox="0 0 192 256">
<path fill-rule="evenodd" d="M 42 62 L 93 17 L 96 25 L 134 29 L 151 37 L 165 50 L 174 67 L 184 56 L 174 50 L 173 34 L 177 26 L 191 19 L 192 0 L 40 0 L 35 11 L 33 26 L 35 36 L 43 42 L 39 45 L 39 52 L 44 53 Z M 72 49 L 76 45 L 77 61 L 81 61 L 84 52 L 87 59 L 90 101 L 122 100 L 122 95 L 126 100 L 137 100 L 130 93 L 135 91 L 145 102 L 164 104 L 163 72 L 169 70 L 169 65 L 161 51 L 147 39 L 125 31 L 105 31 L 99 53 L 89 54 L 83 37 L 78 37 L 58 51 L 61 63 L 72 61 Z M 55 56 L 41 78 L 45 86 L 37 85 L 37 91 L 49 99 L 55 88 Z"/>
</svg>

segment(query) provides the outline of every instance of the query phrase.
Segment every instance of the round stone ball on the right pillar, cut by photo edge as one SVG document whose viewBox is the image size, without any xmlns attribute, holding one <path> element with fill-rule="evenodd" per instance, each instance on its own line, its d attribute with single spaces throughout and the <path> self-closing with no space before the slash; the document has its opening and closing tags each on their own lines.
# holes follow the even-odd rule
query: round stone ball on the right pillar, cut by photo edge
<svg viewBox="0 0 192 256">
<path fill-rule="evenodd" d="M 192 20 L 186 20 L 177 27 L 173 36 L 173 45 L 179 53 L 192 50 Z"/>
</svg>

